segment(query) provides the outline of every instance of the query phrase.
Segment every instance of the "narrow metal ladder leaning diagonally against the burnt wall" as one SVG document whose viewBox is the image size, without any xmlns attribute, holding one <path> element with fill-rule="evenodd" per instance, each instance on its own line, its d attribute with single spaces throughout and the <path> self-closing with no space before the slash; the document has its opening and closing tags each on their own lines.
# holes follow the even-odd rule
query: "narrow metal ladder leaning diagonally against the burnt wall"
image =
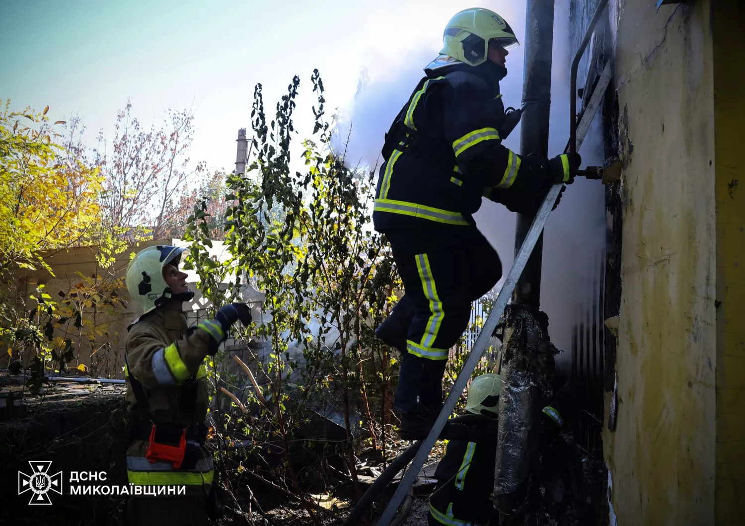
<svg viewBox="0 0 745 526">
<path fill-rule="evenodd" d="M 590 22 L 589 28 L 587 29 L 585 38 L 580 44 L 580 47 L 577 49 L 577 55 L 574 57 L 574 61 L 571 64 L 571 89 L 569 94 L 569 97 L 571 99 L 571 123 L 569 135 L 570 139 L 566 151 L 570 151 L 572 153 L 580 149 L 580 146 L 585 139 L 586 133 L 589 130 L 590 123 L 592 122 L 592 119 L 595 118 L 597 108 L 600 107 L 602 95 L 603 93 L 605 93 L 606 88 L 610 83 L 611 72 L 610 61 L 608 60 L 606 62 L 605 68 L 603 69 L 603 73 L 600 75 L 600 78 L 595 84 L 595 89 L 593 90 L 592 95 L 589 98 L 589 103 L 585 111 L 583 112 L 579 123 L 577 123 L 577 120 L 574 116 L 576 115 L 577 111 L 577 68 L 580 63 L 580 58 L 582 57 L 585 48 L 587 47 L 587 44 L 590 40 L 590 37 L 592 37 L 592 33 L 595 31 L 595 25 L 597 25 L 597 21 L 600 19 L 600 15 L 603 13 L 603 10 L 605 10 L 607 4 L 608 0 L 600 0 L 600 2 L 597 4 L 595 15 L 592 16 L 592 21 Z M 510 268 L 510 272 L 507 273 L 507 279 L 504 280 L 504 285 L 502 285 L 501 291 L 499 291 L 497 301 L 492 308 L 492 311 L 489 312 L 489 317 L 486 318 L 486 322 L 484 322 L 484 326 L 482 327 L 481 332 L 476 339 L 476 343 L 474 343 L 474 346 L 471 349 L 466 363 L 463 364 L 463 368 L 460 370 L 460 373 L 458 374 L 458 377 L 453 384 L 450 394 L 448 394 L 448 398 L 443 405 L 443 410 L 440 411 L 440 415 L 437 416 L 437 420 L 434 422 L 434 426 L 429 432 L 427 438 L 425 438 L 425 440 L 422 442 L 422 446 L 419 447 L 419 451 L 416 452 L 416 457 L 414 457 L 411 466 L 409 466 L 409 469 L 405 473 L 404 478 L 399 484 L 399 487 L 396 488 L 396 492 L 393 494 L 393 498 L 391 498 L 388 502 L 387 507 L 378 520 L 377 526 L 390 525 L 390 522 L 393 520 L 393 517 L 396 516 L 396 511 L 399 509 L 399 506 L 404 500 L 406 493 L 416 479 L 416 476 L 419 475 L 419 471 L 422 469 L 422 466 L 424 466 L 424 463 L 427 460 L 427 457 L 429 456 L 434 443 L 437 442 L 437 437 L 440 437 L 440 433 L 443 431 L 445 424 L 448 422 L 450 414 L 453 412 L 457 400 L 460 398 L 460 394 L 463 393 L 463 389 L 466 388 L 466 384 L 468 383 L 469 378 L 471 378 L 474 370 L 476 369 L 476 365 L 481 359 L 481 355 L 484 354 L 486 344 L 489 342 L 489 338 L 494 332 L 494 329 L 496 329 L 497 327 L 499 318 L 504 312 L 504 308 L 507 306 L 507 301 L 510 300 L 513 291 L 515 290 L 515 285 L 517 285 L 517 281 L 525 268 L 527 259 L 530 257 L 530 253 L 533 252 L 533 248 L 536 246 L 536 242 L 538 241 L 538 238 L 543 231 L 543 227 L 545 226 L 546 221 L 548 221 L 548 215 L 551 214 L 551 209 L 554 207 L 554 203 L 556 203 L 557 197 L 559 197 L 559 191 L 561 191 L 561 187 L 562 185 L 560 184 L 552 186 L 551 189 L 549 189 L 545 199 L 543 200 L 541 207 L 536 213 L 536 217 L 533 219 L 533 223 L 530 224 L 530 229 L 525 236 L 525 240 L 523 241 L 522 246 L 517 253 L 517 256 L 515 256 L 513 266 Z"/>
</svg>

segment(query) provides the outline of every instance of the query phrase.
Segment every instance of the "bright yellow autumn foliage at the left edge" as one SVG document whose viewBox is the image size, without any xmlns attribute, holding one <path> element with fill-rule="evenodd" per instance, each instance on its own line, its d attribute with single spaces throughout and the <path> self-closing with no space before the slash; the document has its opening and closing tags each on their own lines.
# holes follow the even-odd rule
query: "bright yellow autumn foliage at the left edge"
<svg viewBox="0 0 745 526">
<path fill-rule="evenodd" d="M 47 111 L 11 112 L 7 101 L 0 113 L 0 273 L 50 270 L 43 252 L 85 244 L 100 221 L 103 178 L 65 155 L 53 130 L 63 122 Z"/>
</svg>

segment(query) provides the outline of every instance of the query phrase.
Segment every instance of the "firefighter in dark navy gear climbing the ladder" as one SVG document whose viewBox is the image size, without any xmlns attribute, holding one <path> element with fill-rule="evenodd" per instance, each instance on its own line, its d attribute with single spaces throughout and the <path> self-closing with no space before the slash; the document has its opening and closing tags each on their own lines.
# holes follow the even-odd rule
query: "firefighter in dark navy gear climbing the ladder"
<svg viewBox="0 0 745 526">
<path fill-rule="evenodd" d="M 572 182 L 581 162 L 519 156 L 501 144 L 515 123 L 507 124 L 499 80 L 507 50 L 518 45 L 501 16 L 460 11 L 443 41 L 386 134 L 373 209 L 405 289 L 376 329 L 403 354 L 395 407 L 404 440 L 426 437 L 437 419 L 448 349 L 468 325 L 471 302 L 501 277 L 499 257 L 472 218 L 481 197 L 535 212 L 548 188 Z"/>
</svg>

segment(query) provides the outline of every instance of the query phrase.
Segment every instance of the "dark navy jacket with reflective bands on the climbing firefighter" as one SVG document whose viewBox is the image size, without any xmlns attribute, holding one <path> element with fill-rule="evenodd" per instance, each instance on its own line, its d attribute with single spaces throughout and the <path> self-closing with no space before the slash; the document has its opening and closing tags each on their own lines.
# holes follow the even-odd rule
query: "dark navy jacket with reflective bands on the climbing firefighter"
<svg viewBox="0 0 745 526">
<path fill-rule="evenodd" d="M 473 225 L 482 196 L 513 212 L 533 209 L 550 183 L 531 170 L 531 157 L 501 144 L 507 70 L 487 61 L 425 72 L 386 134 L 375 229 Z"/>
</svg>

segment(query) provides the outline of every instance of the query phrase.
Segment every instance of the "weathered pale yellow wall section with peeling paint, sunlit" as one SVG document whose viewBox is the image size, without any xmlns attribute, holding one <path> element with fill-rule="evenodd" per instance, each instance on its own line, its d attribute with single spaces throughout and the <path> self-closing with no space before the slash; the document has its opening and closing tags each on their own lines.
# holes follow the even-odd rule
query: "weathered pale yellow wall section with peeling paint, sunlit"
<svg viewBox="0 0 745 526">
<path fill-rule="evenodd" d="M 708 1 L 621 0 L 624 161 L 618 421 L 604 431 L 619 525 L 714 524 L 716 208 Z M 742 148 L 745 151 L 745 148 Z"/>
</svg>

